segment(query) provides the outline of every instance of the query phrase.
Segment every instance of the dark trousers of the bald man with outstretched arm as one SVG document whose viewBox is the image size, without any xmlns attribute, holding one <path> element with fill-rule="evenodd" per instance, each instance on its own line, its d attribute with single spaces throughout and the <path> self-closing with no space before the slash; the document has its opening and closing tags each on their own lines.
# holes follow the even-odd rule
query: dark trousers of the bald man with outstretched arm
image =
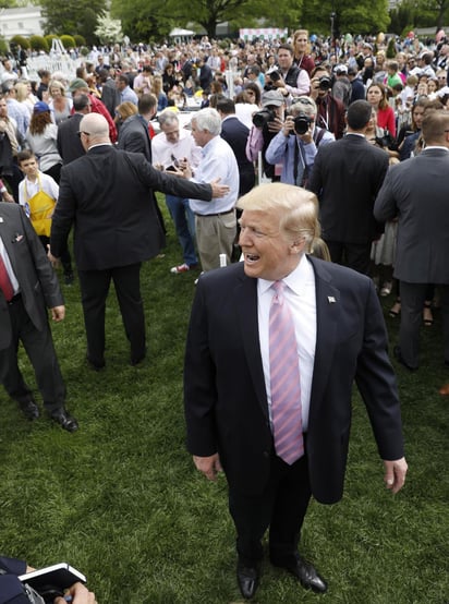
<svg viewBox="0 0 449 604">
<path fill-rule="evenodd" d="M 131 360 L 145 354 L 145 316 L 141 297 L 141 263 L 105 270 L 80 270 L 81 299 L 86 326 L 87 355 L 98 365 L 105 361 L 105 311 L 111 280 L 116 288 Z"/>
</svg>

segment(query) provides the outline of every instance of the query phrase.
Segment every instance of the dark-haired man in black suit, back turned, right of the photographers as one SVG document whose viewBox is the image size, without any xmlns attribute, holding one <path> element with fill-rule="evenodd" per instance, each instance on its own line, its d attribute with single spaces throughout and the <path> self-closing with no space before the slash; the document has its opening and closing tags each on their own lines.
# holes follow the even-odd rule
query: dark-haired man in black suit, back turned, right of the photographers
<svg viewBox="0 0 449 604">
<path fill-rule="evenodd" d="M 321 145 L 307 189 L 319 200 L 323 238 L 332 262 L 367 275 L 373 241 L 381 230 L 373 216 L 374 201 L 388 170 L 388 155 L 365 138 L 372 107 L 356 100 L 348 108 L 348 132 Z"/>
</svg>

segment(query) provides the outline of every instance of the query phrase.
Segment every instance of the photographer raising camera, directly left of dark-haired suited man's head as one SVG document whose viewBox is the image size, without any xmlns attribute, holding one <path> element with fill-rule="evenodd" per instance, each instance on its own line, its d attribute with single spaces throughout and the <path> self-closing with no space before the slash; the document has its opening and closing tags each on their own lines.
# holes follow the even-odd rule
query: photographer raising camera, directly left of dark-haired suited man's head
<svg viewBox="0 0 449 604">
<path fill-rule="evenodd" d="M 341 100 L 331 94 L 332 81 L 326 68 L 318 65 L 312 72 L 311 97 L 315 100 L 318 113 L 316 123 L 329 130 L 336 138 L 344 133 L 345 109 Z"/>
</svg>

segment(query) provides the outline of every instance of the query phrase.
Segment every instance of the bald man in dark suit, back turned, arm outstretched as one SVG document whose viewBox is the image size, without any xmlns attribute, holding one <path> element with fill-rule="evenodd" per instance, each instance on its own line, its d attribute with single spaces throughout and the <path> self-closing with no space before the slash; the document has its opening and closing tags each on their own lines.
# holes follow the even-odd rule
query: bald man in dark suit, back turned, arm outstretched
<svg viewBox="0 0 449 604">
<path fill-rule="evenodd" d="M 156 256 L 165 240 L 150 201 L 153 191 L 210 201 L 222 196 L 228 186 L 199 185 L 181 173 L 159 172 L 142 154 L 114 148 L 107 121 L 98 113 L 85 116 L 80 132 L 87 153 L 62 168 L 50 259 L 60 256 L 74 224 L 87 360 L 95 370 L 105 365 L 105 305 L 112 279 L 131 343 L 131 363 L 137 364 L 146 353 L 141 264 Z"/>
</svg>

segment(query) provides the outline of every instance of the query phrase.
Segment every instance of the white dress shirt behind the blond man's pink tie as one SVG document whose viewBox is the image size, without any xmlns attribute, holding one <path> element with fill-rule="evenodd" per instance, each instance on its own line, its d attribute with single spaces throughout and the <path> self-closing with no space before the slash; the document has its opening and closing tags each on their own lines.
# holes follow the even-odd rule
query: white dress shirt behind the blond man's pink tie
<svg viewBox="0 0 449 604">
<path fill-rule="evenodd" d="M 315 273 L 307 257 L 303 255 L 296 268 L 282 280 L 287 286 L 283 289 L 283 297 L 286 303 L 289 304 L 294 322 L 301 379 L 303 432 L 307 432 L 316 348 Z M 269 310 L 275 295 L 272 283 L 274 281 L 266 279 L 257 280 L 258 334 L 270 421 Z"/>
</svg>

